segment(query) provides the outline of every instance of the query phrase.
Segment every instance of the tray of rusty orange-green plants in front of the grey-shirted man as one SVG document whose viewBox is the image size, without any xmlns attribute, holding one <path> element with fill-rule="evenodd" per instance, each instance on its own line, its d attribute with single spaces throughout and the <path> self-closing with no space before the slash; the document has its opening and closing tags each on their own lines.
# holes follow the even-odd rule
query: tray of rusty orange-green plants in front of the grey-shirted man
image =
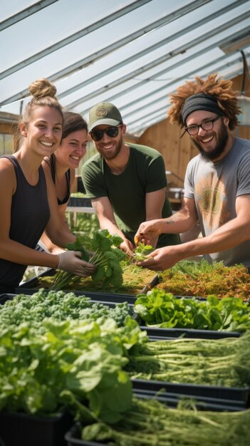
<svg viewBox="0 0 250 446">
<path fill-rule="evenodd" d="M 171 269 L 159 274 L 162 289 L 175 296 L 207 297 L 214 294 L 219 299 L 225 296 L 250 297 L 250 275 L 244 265 L 224 266 L 222 262 L 180 261 Z"/>
</svg>

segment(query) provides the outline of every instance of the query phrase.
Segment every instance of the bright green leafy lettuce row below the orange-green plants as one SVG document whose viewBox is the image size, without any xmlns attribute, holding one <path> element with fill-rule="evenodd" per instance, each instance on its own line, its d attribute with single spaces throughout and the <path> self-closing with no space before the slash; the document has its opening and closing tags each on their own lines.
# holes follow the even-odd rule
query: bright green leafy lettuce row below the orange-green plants
<svg viewBox="0 0 250 446">
<path fill-rule="evenodd" d="M 134 306 L 147 326 L 199 330 L 250 330 L 250 305 L 237 297 L 181 299 L 160 289 L 138 294 Z"/>
</svg>

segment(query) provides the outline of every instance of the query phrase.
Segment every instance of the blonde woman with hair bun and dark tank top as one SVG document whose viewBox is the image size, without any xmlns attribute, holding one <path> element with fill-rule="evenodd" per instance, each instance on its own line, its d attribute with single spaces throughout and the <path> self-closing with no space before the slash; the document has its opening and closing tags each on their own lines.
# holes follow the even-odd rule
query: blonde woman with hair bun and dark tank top
<svg viewBox="0 0 250 446">
<path fill-rule="evenodd" d="M 0 293 L 14 293 L 27 265 L 63 269 L 89 276 L 95 266 L 80 259 L 80 252 L 48 254 L 36 251 L 46 232 L 59 247 L 75 236 L 60 225 L 56 191 L 41 165 L 61 142 L 63 110 L 56 87 L 42 78 L 29 85 L 26 105 L 16 137 L 14 154 L 0 157 Z"/>
</svg>

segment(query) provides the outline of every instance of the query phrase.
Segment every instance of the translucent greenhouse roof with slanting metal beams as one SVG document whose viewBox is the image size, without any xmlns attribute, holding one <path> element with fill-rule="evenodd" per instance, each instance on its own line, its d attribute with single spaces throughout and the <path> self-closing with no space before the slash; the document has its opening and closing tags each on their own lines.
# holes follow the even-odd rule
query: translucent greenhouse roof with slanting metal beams
<svg viewBox="0 0 250 446">
<path fill-rule="evenodd" d="M 250 58 L 247 0 L 1 0 L 1 20 L 0 112 L 21 113 L 46 77 L 86 119 L 115 103 L 135 136 L 166 118 L 184 81 L 234 78 Z"/>
</svg>

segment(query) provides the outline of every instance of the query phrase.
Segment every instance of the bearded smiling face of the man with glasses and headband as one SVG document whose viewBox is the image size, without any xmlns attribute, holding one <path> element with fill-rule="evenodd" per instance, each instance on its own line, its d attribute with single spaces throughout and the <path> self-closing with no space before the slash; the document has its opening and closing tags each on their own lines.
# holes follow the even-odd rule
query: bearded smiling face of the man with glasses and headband
<svg viewBox="0 0 250 446">
<path fill-rule="evenodd" d="M 197 110 L 187 116 L 186 125 L 201 124 L 206 120 L 216 118 L 216 114 Z M 201 153 L 201 155 L 209 160 L 217 161 L 226 155 L 229 151 L 229 119 L 226 116 L 221 116 L 214 122 L 212 130 L 203 130 L 199 127 L 197 135 L 192 136 L 194 145 Z"/>
</svg>

